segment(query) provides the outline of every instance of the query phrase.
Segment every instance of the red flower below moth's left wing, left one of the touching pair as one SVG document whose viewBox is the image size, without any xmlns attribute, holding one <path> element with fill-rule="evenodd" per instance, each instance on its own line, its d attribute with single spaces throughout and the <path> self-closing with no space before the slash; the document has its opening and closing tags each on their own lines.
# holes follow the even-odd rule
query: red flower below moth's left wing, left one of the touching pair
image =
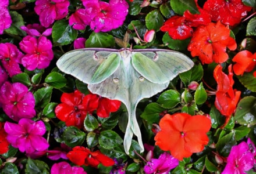
<svg viewBox="0 0 256 174">
<path fill-rule="evenodd" d="M 67 126 L 77 126 L 82 128 L 84 118 L 86 118 L 86 107 L 83 105 L 84 94 L 79 90 L 73 93 L 63 93 L 61 104 L 55 108 L 56 117 L 64 121 Z"/>
</svg>

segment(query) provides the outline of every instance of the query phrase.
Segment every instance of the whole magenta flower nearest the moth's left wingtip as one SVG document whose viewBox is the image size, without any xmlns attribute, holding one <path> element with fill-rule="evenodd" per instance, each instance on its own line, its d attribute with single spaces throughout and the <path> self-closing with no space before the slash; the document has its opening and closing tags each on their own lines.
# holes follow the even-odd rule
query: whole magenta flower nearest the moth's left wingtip
<svg viewBox="0 0 256 174">
<path fill-rule="evenodd" d="M 20 42 L 20 49 L 27 53 L 22 57 L 22 64 L 30 71 L 48 67 L 54 58 L 52 43 L 44 36 L 38 39 L 30 35 L 24 37 Z"/>
</svg>

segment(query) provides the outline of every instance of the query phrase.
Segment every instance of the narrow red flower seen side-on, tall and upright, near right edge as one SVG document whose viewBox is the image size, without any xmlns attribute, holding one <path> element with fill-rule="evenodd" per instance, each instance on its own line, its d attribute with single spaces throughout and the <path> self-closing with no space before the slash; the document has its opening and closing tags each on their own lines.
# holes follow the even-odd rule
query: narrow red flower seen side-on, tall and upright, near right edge
<svg viewBox="0 0 256 174">
<path fill-rule="evenodd" d="M 229 74 L 226 75 L 222 72 L 221 65 L 218 65 L 214 69 L 214 78 L 218 84 L 215 107 L 220 111 L 222 115 L 225 115 L 226 123 L 229 121 L 231 115 L 236 110 L 236 105 L 239 102 L 241 95 L 240 91 L 233 90 L 233 73 L 232 65 L 229 66 Z M 225 124 L 226 124 L 225 123 Z"/>
</svg>

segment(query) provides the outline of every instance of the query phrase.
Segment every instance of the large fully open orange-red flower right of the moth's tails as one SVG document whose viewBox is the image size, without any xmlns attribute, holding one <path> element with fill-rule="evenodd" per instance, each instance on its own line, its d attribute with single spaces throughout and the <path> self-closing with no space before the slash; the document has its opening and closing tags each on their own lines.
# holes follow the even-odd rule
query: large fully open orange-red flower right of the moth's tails
<svg viewBox="0 0 256 174">
<path fill-rule="evenodd" d="M 178 160 L 198 153 L 208 144 L 207 132 L 211 119 L 186 113 L 166 114 L 159 122 L 161 131 L 155 136 L 156 145 L 170 151 Z"/>
</svg>

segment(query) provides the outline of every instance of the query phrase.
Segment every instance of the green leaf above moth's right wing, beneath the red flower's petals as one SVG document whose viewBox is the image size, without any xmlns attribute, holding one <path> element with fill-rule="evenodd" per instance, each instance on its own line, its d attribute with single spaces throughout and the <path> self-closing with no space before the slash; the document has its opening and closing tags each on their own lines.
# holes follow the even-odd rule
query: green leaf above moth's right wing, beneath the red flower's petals
<svg viewBox="0 0 256 174">
<path fill-rule="evenodd" d="M 168 46 L 168 48 L 173 50 L 186 50 L 187 45 L 189 45 L 190 38 L 180 40 L 180 39 L 172 39 L 170 38 L 168 32 L 165 32 L 162 38 L 163 44 Z"/>
</svg>

